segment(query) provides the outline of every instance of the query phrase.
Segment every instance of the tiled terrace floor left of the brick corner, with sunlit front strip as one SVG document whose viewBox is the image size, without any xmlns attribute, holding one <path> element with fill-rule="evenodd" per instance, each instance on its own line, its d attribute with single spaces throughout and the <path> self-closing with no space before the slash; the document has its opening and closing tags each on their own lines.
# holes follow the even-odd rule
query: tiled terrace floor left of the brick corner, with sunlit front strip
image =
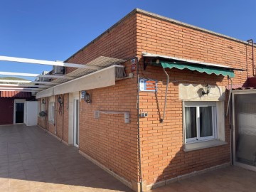
<svg viewBox="0 0 256 192">
<path fill-rule="evenodd" d="M 38 127 L 0 126 L 0 191 L 131 191 Z"/>
</svg>

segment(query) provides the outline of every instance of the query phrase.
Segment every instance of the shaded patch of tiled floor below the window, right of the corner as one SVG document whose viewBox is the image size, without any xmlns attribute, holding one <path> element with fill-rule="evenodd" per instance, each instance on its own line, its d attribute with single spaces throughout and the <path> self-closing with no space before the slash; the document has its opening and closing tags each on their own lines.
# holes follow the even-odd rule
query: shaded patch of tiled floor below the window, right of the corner
<svg viewBox="0 0 256 192">
<path fill-rule="evenodd" d="M 169 186 L 155 188 L 151 192 L 255 192 L 256 172 L 228 166 L 206 174 L 171 183 Z"/>
</svg>

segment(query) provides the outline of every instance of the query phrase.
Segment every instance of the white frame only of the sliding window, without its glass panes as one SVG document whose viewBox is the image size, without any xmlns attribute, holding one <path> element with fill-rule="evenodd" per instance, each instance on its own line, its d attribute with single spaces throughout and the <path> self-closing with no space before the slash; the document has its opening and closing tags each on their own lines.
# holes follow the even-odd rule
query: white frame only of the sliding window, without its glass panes
<svg viewBox="0 0 256 192">
<path fill-rule="evenodd" d="M 196 135 L 197 137 L 186 139 L 186 114 L 185 107 L 196 107 Z M 200 137 L 200 111 L 199 107 L 212 107 L 212 122 L 213 122 L 213 135 L 208 137 Z M 216 102 L 184 102 L 183 105 L 183 124 L 184 124 L 184 142 L 185 144 L 196 143 L 196 142 L 205 142 L 213 139 L 217 139 L 217 106 Z"/>
</svg>

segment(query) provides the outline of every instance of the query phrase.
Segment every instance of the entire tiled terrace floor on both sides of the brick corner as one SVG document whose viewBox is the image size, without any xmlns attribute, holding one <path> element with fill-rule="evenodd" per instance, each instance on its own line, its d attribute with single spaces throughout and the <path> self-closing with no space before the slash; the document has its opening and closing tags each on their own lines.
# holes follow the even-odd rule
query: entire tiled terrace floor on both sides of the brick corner
<svg viewBox="0 0 256 192">
<path fill-rule="evenodd" d="M 38 127 L 0 126 L 0 192 L 132 191 Z M 256 172 L 225 169 L 151 192 L 256 191 Z"/>
</svg>

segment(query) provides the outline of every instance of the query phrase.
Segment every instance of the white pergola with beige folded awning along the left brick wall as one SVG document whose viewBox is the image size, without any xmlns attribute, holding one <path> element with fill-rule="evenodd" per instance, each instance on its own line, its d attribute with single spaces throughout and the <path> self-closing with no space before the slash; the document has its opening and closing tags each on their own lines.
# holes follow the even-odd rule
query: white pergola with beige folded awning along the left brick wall
<svg viewBox="0 0 256 192">
<path fill-rule="evenodd" d="M 100 56 L 95 60 L 92 60 L 90 63 L 85 64 L 74 64 L 74 63 L 61 63 L 54 61 L 46 61 L 46 60 L 31 60 L 26 58 L 11 58 L 11 57 L 3 57 L 0 56 L 0 60 L 6 61 L 15 61 L 21 63 L 38 63 L 42 65 L 60 65 L 65 67 L 77 67 L 77 69 L 73 70 L 71 73 L 66 75 L 41 75 L 41 74 L 31 74 L 31 73 L 11 73 L 11 72 L 0 72 L 0 75 L 12 75 L 12 76 L 27 76 L 27 77 L 43 77 L 53 79 L 52 81 L 28 81 L 28 80 L 0 80 L 0 89 L 2 91 L 22 91 L 22 92 L 38 92 L 38 97 L 49 97 L 55 94 L 63 94 L 64 90 L 68 90 L 68 92 L 75 92 L 78 90 L 86 90 L 89 88 L 96 87 L 106 87 L 110 85 L 114 85 L 114 82 L 107 82 L 107 75 L 111 75 L 111 80 L 115 80 L 114 70 L 108 70 L 109 74 L 105 74 L 105 78 L 100 76 L 100 79 L 87 78 L 87 81 L 82 81 L 80 78 L 85 77 L 94 77 L 96 74 L 103 74 L 103 71 L 107 70 L 108 67 L 112 66 L 115 68 L 124 68 L 123 65 L 117 65 L 120 63 L 124 63 L 126 60 L 118 59 L 118 58 L 108 58 L 104 56 Z M 112 69 L 111 68 L 111 69 Z M 97 73 L 99 72 L 99 73 Z M 75 80 L 75 83 L 73 83 Z M 97 80 L 97 81 L 96 81 Z M 105 82 L 106 81 L 106 82 Z M 97 82 L 98 85 L 95 83 Z M 14 84 L 16 83 L 16 84 Z M 82 83 L 83 85 L 87 85 L 87 87 L 82 86 L 77 83 Z M 55 86 L 60 85 L 60 86 Z M 89 86 L 93 85 L 93 86 Z M 54 86 L 54 87 L 53 87 Z M 65 87 L 65 89 L 63 88 Z M 40 92 L 40 93 L 39 93 Z"/>
</svg>

